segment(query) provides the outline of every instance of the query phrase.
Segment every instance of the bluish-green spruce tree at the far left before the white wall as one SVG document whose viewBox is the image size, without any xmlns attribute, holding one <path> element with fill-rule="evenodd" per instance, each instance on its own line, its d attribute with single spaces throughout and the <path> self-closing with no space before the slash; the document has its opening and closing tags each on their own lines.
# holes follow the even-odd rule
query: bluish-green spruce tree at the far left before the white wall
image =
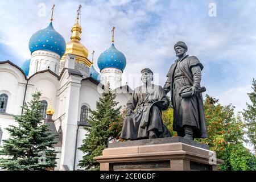
<svg viewBox="0 0 256 182">
<path fill-rule="evenodd" d="M 23 106 L 23 114 L 14 117 L 18 126 L 6 130 L 10 138 L 3 140 L 0 150 L 0 168 L 6 170 L 47 170 L 56 167 L 56 153 L 53 144 L 55 136 L 49 133 L 47 125 L 42 124 L 43 106 L 41 93 L 32 95 L 32 100 Z"/>
</svg>

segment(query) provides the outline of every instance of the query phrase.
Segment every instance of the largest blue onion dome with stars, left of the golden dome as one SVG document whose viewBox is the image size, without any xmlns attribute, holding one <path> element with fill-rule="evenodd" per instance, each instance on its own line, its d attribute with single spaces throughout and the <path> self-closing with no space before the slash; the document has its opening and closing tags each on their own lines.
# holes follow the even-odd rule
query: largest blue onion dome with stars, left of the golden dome
<svg viewBox="0 0 256 182">
<path fill-rule="evenodd" d="M 31 36 L 28 48 L 31 53 L 44 50 L 55 52 L 61 57 L 65 53 L 66 43 L 63 36 L 52 27 L 51 22 L 48 27 L 35 32 L 35 34 Z"/>
</svg>

